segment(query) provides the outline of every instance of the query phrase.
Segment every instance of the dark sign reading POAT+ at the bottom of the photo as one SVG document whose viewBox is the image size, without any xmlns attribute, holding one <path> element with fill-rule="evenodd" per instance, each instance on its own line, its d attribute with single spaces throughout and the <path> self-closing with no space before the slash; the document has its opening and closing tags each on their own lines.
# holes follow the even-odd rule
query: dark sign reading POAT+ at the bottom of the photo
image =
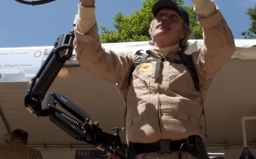
<svg viewBox="0 0 256 159">
<path fill-rule="evenodd" d="M 107 153 L 100 150 L 77 150 L 75 159 L 107 158 Z"/>
</svg>

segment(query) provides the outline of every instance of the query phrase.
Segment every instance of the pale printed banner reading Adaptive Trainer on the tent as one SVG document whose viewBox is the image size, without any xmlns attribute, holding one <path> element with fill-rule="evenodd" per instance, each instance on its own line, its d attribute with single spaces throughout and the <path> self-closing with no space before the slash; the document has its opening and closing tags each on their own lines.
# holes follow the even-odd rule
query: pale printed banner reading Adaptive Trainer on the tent
<svg viewBox="0 0 256 159">
<path fill-rule="evenodd" d="M 0 50 L 0 82 L 30 81 L 51 49 Z"/>
</svg>

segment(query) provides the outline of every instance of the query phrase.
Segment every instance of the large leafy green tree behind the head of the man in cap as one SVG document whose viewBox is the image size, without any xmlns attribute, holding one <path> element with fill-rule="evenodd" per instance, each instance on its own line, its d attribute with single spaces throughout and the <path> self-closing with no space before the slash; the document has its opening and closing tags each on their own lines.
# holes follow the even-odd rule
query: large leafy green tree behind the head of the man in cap
<svg viewBox="0 0 256 159">
<path fill-rule="evenodd" d="M 154 16 L 151 9 L 157 0 L 142 1 L 142 6 L 139 10 L 134 10 L 131 15 L 124 15 L 117 11 L 114 20 L 112 21 L 113 27 L 116 30 L 110 30 L 105 25 L 100 24 L 101 35 L 100 40 L 102 43 L 118 43 L 118 42 L 131 42 L 131 41 L 148 41 L 149 27 Z M 183 0 L 174 0 L 179 6 L 183 6 Z M 193 6 L 183 6 L 188 11 L 190 17 L 190 27 L 194 29 L 191 39 L 202 39 L 202 29 L 197 21 L 196 13 L 193 11 Z"/>
</svg>

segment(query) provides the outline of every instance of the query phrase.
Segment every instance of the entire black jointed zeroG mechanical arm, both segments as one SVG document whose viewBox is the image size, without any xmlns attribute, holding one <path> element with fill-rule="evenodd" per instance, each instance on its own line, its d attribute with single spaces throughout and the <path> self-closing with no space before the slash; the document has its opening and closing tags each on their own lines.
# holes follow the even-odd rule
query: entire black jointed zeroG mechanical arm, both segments
<svg viewBox="0 0 256 159">
<path fill-rule="evenodd" d="M 113 128 L 116 130 L 114 135 L 102 132 L 102 129 L 98 127 L 99 122 L 94 123 L 88 113 L 63 95 L 54 92 L 45 95 L 60 69 L 73 53 L 74 29 L 75 22 L 69 33 L 57 38 L 53 50 L 28 85 L 24 105 L 37 118 L 49 116 L 50 121 L 73 138 L 95 145 L 110 154 L 113 150 L 118 151 L 120 155 L 126 157 L 118 135 L 120 128 Z M 64 108 L 76 119 L 57 109 L 56 105 Z"/>
</svg>

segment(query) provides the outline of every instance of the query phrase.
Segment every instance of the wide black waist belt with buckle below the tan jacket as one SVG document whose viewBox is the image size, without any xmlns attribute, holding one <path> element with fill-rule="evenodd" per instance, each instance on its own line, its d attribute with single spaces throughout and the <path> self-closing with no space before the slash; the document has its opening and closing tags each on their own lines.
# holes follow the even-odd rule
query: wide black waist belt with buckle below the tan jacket
<svg viewBox="0 0 256 159">
<path fill-rule="evenodd" d="M 172 151 L 179 151 L 179 154 L 180 151 L 186 151 L 197 158 L 209 159 L 203 139 L 197 135 L 192 135 L 182 140 L 160 140 L 149 144 L 130 142 L 128 159 L 133 159 L 135 155 L 141 153 L 170 153 Z"/>
</svg>

